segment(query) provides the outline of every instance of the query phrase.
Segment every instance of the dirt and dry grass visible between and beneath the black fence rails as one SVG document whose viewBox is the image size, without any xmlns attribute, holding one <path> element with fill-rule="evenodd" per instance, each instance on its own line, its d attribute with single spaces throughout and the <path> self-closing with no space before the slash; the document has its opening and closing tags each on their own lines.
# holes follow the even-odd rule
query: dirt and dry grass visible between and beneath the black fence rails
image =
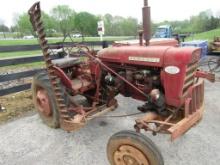
<svg viewBox="0 0 220 165">
<path fill-rule="evenodd" d="M 9 66 L 0 67 L 0 76 L 12 73 L 24 72 L 33 69 L 39 69 L 39 66 Z M 7 89 L 18 85 L 31 83 L 32 77 L 21 78 L 12 81 L 6 81 L 0 83 L 0 90 Z M 27 114 L 34 112 L 34 105 L 32 101 L 32 93 L 30 90 L 13 93 L 0 97 L 0 105 L 3 107 L 0 109 L 0 124 L 8 120 L 13 120 L 19 117 L 26 116 Z"/>
</svg>

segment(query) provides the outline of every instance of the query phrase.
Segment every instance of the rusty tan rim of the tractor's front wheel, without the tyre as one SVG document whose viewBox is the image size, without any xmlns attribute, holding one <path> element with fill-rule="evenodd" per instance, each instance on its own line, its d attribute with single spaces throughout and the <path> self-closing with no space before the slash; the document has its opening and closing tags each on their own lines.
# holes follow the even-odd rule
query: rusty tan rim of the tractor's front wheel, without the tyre
<svg viewBox="0 0 220 165">
<path fill-rule="evenodd" d="M 136 147 L 122 145 L 114 153 L 116 165 L 149 165 L 146 156 Z"/>
</svg>

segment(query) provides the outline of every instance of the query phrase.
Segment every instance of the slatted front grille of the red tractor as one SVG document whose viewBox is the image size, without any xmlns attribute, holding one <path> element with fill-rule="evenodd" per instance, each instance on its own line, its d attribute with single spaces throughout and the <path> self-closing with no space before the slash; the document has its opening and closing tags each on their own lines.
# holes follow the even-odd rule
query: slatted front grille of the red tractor
<svg viewBox="0 0 220 165">
<path fill-rule="evenodd" d="M 198 68 L 198 62 L 191 63 L 187 66 L 186 77 L 184 79 L 184 85 L 183 85 L 183 96 L 187 95 L 188 88 L 194 84 L 194 73 L 197 68 Z"/>
</svg>

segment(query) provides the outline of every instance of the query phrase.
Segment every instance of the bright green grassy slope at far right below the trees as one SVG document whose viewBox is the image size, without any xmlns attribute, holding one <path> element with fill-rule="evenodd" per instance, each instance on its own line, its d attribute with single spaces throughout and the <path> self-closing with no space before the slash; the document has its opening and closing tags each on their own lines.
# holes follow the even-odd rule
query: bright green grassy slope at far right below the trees
<svg viewBox="0 0 220 165">
<path fill-rule="evenodd" d="M 214 37 L 219 36 L 220 37 L 220 28 L 219 29 L 214 29 L 211 31 L 203 32 L 203 33 L 198 33 L 194 34 L 190 37 L 187 38 L 187 41 L 191 40 L 207 40 L 207 41 L 213 41 Z"/>
</svg>

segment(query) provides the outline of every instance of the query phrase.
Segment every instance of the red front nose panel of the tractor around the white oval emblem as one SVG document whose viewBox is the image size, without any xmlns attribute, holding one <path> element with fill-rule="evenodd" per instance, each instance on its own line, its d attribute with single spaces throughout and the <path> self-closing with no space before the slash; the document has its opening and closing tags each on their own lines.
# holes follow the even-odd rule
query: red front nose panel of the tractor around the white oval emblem
<svg viewBox="0 0 220 165">
<path fill-rule="evenodd" d="M 168 105 L 180 106 L 184 100 L 183 96 L 183 85 L 186 76 L 187 65 L 194 63 L 199 60 L 200 53 L 199 48 L 171 48 L 164 56 L 163 68 L 167 66 L 177 66 L 180 69 L 178 74 L 169 74 L 163 70 L 163 85 L 165 89 L 166 103 Z M 196 56 L 196 57 L 193 57 Z"/>
</svg>

